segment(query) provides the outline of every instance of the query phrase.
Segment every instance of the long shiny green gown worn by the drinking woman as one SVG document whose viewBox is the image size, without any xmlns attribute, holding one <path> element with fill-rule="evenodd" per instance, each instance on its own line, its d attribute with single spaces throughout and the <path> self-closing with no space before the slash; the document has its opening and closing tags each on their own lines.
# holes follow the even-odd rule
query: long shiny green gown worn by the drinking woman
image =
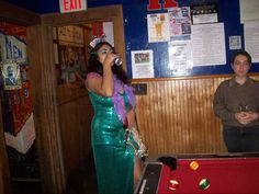
<svg viewBox="0 0 259 194">
<path fill-rule="evenodd" d="M 125 107 L 130 109 L 126 92 Z M 133 194 L 134 151 L 125 147 L 122 122 L 112 98 L 89 92 L 94 107 L 91 123 L 91 144 L 95 162 L 99 194 Z"/>
</svg>

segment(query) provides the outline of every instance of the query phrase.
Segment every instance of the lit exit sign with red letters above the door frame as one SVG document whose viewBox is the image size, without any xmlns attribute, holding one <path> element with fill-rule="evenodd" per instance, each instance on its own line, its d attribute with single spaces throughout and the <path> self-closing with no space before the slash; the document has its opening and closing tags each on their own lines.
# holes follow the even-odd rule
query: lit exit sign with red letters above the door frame
<svg viewBox="0 0 259 194">
<path fill-rule="evenodd" d="M 61 13 L 87 10 L 87 0 L 59 0 Z"/>
</svg>

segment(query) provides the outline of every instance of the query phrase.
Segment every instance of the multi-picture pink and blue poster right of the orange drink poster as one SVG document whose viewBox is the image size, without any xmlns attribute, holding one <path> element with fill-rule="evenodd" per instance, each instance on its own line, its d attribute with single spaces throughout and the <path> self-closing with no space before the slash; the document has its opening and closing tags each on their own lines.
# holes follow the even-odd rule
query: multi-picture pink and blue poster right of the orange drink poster
<svg viewBox="0 0 259 194">
<path fill-rule="evenodd" d="M 171 8 L 168 10 L 170 36 L 191 34 L 190 7 Z"/>
</svg>

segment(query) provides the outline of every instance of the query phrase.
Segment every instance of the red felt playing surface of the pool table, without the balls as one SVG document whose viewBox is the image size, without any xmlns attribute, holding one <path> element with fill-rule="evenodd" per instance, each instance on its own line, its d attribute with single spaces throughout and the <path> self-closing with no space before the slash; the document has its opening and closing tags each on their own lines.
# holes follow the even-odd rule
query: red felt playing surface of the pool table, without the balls
<svg viewBox="0 0 259 194">
<path fill-rule="evenodd" d="M 196 170 L 190 168 L 192 161 L 199 163 Z M 202 179 L 210 182 L 206 190 L 199 186 Z M 169 190 L 170 180 L 179 183 L 174 191 Z M 162 166 L 157 193 L 259 194 L 259 158 L 178 159 L 176 170 Z"/>
</svg>

